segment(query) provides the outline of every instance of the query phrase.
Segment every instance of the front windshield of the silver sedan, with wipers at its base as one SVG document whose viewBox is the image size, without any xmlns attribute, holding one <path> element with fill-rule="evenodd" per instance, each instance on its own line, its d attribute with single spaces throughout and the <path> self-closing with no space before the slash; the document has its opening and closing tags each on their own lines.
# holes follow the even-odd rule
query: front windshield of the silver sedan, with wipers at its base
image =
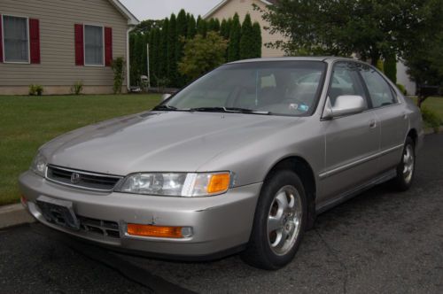
<svg viewBox="0 0 443 294">
<path fill-rule="evenodd" d="M 321 61 L 221 66 L 170 98 L 163 110 L 311 115 L 323 84 Z"/>
</svg>

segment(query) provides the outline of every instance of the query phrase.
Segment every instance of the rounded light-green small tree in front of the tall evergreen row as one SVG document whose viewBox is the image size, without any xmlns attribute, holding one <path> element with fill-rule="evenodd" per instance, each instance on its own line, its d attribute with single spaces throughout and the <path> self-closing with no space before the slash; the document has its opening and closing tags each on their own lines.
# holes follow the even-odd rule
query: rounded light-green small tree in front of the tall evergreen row
<svg viewBox="0 0 443 294">
<path fill-rule="evenodd" d="M 214 31 L 207 32 L 206 37 L 196 35 L 184 45 L 183 61 L 178 65 L 180 73 L 195 80 L 220 66 L 225 62 L 227 46 L 227 41 Z"/>
</svg>

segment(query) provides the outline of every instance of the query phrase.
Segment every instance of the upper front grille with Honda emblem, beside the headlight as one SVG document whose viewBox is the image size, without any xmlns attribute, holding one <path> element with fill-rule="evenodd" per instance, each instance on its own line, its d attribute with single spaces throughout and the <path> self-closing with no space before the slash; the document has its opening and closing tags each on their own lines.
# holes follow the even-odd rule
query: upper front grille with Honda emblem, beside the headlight
<svg viewBox="0 0 443 294">
<path fill-rule="evenodd" d="M 111 191 L 122 179 L 117 175 L 89 173 L 59 166 L 48 166 L 46 178 L 71 187 L 97 191 Z"/>
</svg>

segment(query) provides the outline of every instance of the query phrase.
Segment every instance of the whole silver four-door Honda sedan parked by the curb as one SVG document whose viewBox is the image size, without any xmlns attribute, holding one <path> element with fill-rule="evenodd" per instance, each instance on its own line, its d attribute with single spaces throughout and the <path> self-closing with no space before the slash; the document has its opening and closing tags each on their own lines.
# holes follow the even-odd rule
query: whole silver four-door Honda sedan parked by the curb
<svg viewBox="0 0 443 294">
<path fill-rule="evenodd" d="M 407 190 L 423 136 L 365 63 L 244 60 L 46 143 L 19 187 L 44 225 L 114 250 L 277 269 L 318 213 L 381 182 Z"/>
</svg>

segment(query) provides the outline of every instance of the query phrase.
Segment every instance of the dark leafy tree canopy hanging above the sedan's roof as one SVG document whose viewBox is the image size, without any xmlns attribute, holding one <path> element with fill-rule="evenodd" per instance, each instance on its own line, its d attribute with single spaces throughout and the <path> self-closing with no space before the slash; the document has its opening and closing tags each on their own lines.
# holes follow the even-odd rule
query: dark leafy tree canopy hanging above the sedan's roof
<svg viewBox="0 0 443 294">
<path fill-rule="evenodd" d="M 431 0 L 434 1 L 434 0 Z M 440 0 L 437 0 L 440 1 Z M 281 0 L 264 11 L 271 33 L 288 43 L 272 46 L 296 55 L 371 59 L 400 56 L 411 34 L 423 29 L 429 0 Z"/>
</svg>

